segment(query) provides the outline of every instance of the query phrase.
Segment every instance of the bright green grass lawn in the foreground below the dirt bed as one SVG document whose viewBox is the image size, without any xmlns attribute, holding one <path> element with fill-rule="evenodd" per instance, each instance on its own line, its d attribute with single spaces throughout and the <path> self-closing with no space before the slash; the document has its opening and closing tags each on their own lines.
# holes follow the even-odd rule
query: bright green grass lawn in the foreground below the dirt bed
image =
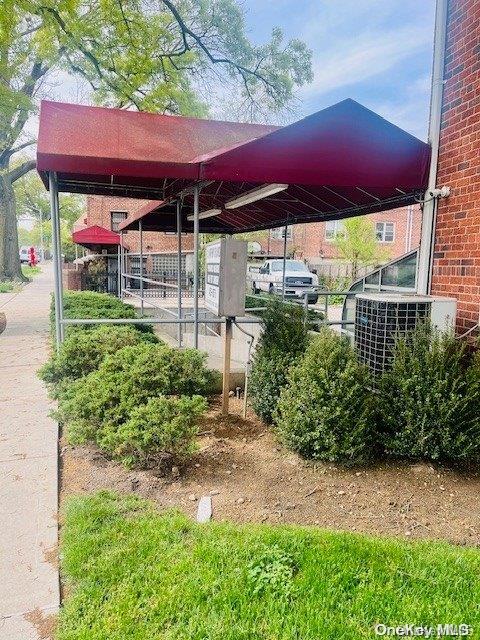
<svg viewBox="0 0 480 640">
<path fill-rule="evenodd" d="M 443 543 L 197 525 L 101 493 L 69 501 L 62 570 L 60 640 L 355 640 L 376 623 L 480 637 L 480 551 Z"/>
</svg>

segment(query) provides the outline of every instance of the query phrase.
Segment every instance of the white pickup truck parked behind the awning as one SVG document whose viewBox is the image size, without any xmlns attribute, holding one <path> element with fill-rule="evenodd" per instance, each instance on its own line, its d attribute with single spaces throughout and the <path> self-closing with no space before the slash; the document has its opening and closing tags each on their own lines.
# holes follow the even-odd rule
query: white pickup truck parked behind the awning
<svg viewBox="0 0 480 640">
<path fill-rule="evenodd" d="M 283 260 L 266 260 L 260 269 L 250 269 L 252 292 L 265 291 L 271 294 L 281 295 L 283 291 Z M 318 277 L 312 273 L 306 264 L 300 260 L 286 260 L 285 264 L 285 296 L 288 298 L 304 299 L 315 304 L 318 293 Z"/>
</svg>

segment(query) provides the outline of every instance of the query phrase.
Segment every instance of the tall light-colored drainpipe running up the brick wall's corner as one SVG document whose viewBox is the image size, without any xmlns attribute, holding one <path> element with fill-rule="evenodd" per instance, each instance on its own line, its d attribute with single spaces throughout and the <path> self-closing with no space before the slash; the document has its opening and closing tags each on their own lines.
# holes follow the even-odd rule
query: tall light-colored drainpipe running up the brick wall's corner
<svg viewBox="0 0 480 640">
<path fill-rule="evenodd" d="M 448 0 L 437 0 L 435 11 L 435 37 L 433 43 L 432 91 L 430 98 L 430 121 L 428 141 L 432 148 L 428 186 L 423 205 L 422 235 L 417 265 L 417 292 L 430 293 L 435 245 L 435 221 L 438 198 L 432 198 L 430 192 L 437 186 L 438 150 L 440 143 L 440 124 L 442 117 L 443 73 L 445 66 L 445 43 L 447 37 Z"/>
</svg>

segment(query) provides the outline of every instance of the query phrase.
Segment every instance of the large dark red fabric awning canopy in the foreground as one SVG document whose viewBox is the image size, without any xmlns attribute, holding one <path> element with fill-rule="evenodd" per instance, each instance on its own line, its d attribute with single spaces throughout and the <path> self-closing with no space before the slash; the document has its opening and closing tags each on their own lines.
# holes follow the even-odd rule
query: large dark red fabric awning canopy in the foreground
<svg viewBox="0 0 480 640">
<path fill-rule="evenodd" d="M 204 232 L 238 233 L 332 220 L 411 204 L 426 187 L 430 148 L 354 100 L 286 127 L 43 102 L 38 169 L 59 189 L 145 198 L 121 229 L 174 231 L 174 201 L 192 229 L 193 185 Z M 288 188 L 226 209 L 264 184 Z"/>
</svg>

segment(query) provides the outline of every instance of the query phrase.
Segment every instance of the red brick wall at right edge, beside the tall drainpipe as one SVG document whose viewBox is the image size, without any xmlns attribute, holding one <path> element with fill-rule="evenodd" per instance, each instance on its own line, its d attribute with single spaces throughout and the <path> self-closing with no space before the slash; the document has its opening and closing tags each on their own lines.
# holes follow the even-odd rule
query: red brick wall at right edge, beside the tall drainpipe
<svg viewBox="0 0 480 640">
<path fill-rule="evenodd" d="M 458 299 L 459 330 L 480 308 L 480 2 L 450 0 L 431 293 Z"/>
</svg>

